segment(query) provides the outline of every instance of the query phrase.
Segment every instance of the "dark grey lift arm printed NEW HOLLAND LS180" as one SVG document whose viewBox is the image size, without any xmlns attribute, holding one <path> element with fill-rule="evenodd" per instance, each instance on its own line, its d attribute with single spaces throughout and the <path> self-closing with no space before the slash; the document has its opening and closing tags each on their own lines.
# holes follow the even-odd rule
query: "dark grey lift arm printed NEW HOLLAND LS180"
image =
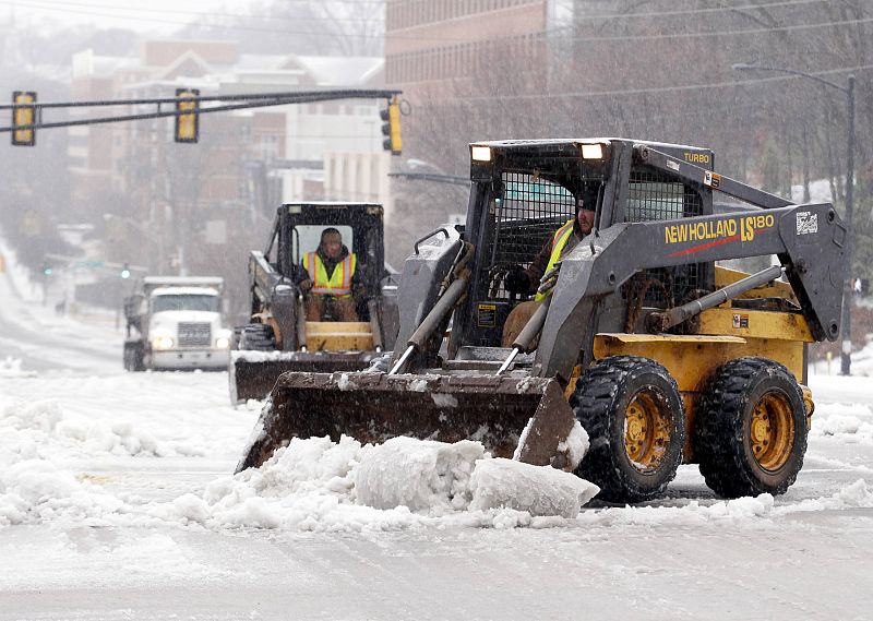
<svg viewBox="0 0 873 621">
<path fill-rule="evenodd" d="M 840 325 L 846 237 L 829 204 L 613 225 L 599 232 L 594 253 L 589 243 L 579 243 L 563 260 L 537 349 L 537 374 L 570 379 L 597 301 L 636 272 L 693 262 L 778 255 L 812 335 L 834 341 Z M 585 363 L 590 356 L 586 350 Z"/>
</svg>

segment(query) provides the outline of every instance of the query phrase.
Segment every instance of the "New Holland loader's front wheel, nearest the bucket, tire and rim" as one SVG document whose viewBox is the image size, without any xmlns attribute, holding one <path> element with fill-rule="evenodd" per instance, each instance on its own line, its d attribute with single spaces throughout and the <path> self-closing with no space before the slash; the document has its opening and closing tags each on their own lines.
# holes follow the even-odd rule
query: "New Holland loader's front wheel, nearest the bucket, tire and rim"
<svg viewBox="0 0 873 621">
<path fill-rule="evenodd" d="M 675 380 L 637 356 L 600 360 L 570 398 L 590 449 L 576 473 L 609 502 L 643 502 L 663 493 L 682 463 L 685 413 Z"/>
</svg>

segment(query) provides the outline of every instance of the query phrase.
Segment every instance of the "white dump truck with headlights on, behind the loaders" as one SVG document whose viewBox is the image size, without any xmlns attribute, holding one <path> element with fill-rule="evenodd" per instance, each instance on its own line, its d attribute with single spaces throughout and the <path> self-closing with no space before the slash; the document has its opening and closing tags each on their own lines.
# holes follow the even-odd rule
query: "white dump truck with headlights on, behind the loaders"
<svg viewBox="0 0 873 621">
<path fill-rule="evenodd" d="M 124 369 L 226 369 L 232 332 L 222 322 L 224 279 L 146 276 L 124 299 Z"/>
</svg>

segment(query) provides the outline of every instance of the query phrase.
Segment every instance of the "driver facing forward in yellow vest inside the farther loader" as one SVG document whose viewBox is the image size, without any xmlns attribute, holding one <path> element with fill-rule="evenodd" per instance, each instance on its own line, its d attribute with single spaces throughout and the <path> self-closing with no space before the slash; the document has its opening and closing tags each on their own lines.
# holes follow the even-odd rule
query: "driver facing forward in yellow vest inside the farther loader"
<svg viewBox="0 0 873 621">
<path fill-rule="evenodd" d="M 336 321 L 358 321 L 354 297 L 361 292 L 355 278 L 358 258 L 343 244 L 337 229 L 322 231 L 318 250 L 303 254 L 302 265 L 303 278 L 298 286 L 308 294 L 307 321 L 324 321 L 328 304 Z"/>
</svg>

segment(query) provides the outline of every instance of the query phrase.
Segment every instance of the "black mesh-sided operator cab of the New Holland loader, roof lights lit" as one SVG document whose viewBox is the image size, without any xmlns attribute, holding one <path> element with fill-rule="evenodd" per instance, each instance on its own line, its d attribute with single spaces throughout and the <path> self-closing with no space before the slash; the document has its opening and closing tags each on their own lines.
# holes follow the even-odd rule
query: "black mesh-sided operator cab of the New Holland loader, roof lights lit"
<svg viewBox="0 0 873 621">
<path fill-rule="evenodd" d="M 470 146 L 471 200 L 483 201 L 488 208 L 469 211 L 465 238 L 487 250 L 477 252 L 471 278 L 476 285 L 455 318 L 455 325 L 464 326 L 465 344 L 500 345 L 510 311 L 528 299 L 505 290 L 507 271 L 513 265 L 530 265 L 555 230 L 576 217 L 579 200 L 596 206 L 594 230 L 582 242 L 595 249 L 599 230 L 612 224 L 713 213 L 711 192 L 639 162 L 633 156 L 633 148 L 639 145 L 713 167 L 709 150 L 622 139 L 501 141 Z M 610 183 L 613 178 L 626 178 L 629 183 L 619 187 Z M 711 264 L 641 271 L 622 287 L 620 300 L 606 302 L 602 329 L 623 331 L 624 324 L 636 323 L 643 307 L 671 308 L 713 287 Z M 610 322 L 615 325 L 607 325 Z M 634 330 L 631 325 L 630 332 Z"/>
</svg>

